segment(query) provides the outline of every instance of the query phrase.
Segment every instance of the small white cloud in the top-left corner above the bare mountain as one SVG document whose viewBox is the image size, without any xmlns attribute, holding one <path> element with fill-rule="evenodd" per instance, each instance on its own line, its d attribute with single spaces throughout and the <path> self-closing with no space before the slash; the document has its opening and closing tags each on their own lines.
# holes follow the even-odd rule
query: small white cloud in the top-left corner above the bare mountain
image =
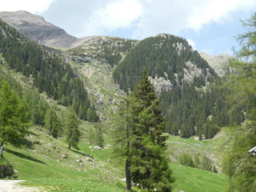
<svg viewBox="0 0 256 192">
<path fill-rule="evenodd" d="M 8 0 L 1 3 L 1 12 L 15 12 L 24 10 L 31 13 L 45 12 L 54 0 Z"/>
</svg>

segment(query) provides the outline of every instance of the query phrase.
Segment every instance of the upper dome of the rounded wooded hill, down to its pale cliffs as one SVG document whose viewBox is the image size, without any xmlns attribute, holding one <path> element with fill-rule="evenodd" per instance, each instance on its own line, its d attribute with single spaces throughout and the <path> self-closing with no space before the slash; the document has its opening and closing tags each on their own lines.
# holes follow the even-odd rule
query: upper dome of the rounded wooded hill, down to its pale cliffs
<svg viewBox="0 0 256 192">
<path fill-rule="evenodd" d="M 207 77 L 215 75 L 214 70 L 203 60 L 197 51 L 183 38 L 174 35 L 160 34 L 141 40 L 134 49 L 113 71 L 113 79 L 120 84 L 120 88 L 134 90 L 141 78 L 143 68 L 147 68 L 148 76 L 157 82 L 162 82 L 157 88 L 168 90 L 182 81 L 192 83 L 193 77 Z M 164 81 L 165 80 L 165 81 Z"/>
</svg>

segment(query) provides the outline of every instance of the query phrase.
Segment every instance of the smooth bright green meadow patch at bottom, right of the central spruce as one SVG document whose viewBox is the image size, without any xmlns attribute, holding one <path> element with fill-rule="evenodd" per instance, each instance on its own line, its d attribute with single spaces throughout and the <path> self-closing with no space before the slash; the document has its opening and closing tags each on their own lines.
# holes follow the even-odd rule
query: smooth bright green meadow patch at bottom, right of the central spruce
<svg viewBox="0 0 256 192">
<path fill-rule="evenodd" d="M 174 192 L 221 192 L 227 189 L 228 179 L 225 175 L 198 170 L 177 163 L 171 163 L 170 166 L 175 177 Z"/>
</svg>

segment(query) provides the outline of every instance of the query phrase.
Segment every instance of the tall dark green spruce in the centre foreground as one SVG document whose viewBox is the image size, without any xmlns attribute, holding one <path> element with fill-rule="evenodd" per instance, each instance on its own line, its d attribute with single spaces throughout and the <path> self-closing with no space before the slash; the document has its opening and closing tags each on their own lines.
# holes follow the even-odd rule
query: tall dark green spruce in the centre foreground
<svg viewBox="0 0 256 192">
<path fill-rule="evenodd" d="M 134 100 L 140 107 L 134 110 L 136 124 L 133 134 L 137 141 L 131 157 L 131 176 L 134 182 L 142 187 L 159 191 L 171 191 L 172 171 L 168 167 L 168 158 L 164 153 L 166 137 L 161 136 L 164 130 L 164 119 L 161 115 L 160 102 L 156 97 L 154 86 L 150 83 L 147 70 L 134 93 Z"/>
</svg>

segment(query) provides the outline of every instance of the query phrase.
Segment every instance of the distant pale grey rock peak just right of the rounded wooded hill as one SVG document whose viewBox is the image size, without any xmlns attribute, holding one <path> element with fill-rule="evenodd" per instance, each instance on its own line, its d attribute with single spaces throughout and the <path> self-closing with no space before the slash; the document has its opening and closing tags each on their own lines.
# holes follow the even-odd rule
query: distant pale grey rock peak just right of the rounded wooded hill
<svg viewBox="0 0 256 192">
<path fill-rule="evenodd" d="M 204 60 L 209 63 L 211 68 L 218 74 L 218 76 L 223 77 L 227 70 L 230 68 L 227 67 L 227 63 L 229 59 L 233 59 L 232 56 L 228 54 L 220 54 L 220 55 L 208 55 L 205 52 L 199 52 L 200 56 L 204 58 Z"/>
</svg>

